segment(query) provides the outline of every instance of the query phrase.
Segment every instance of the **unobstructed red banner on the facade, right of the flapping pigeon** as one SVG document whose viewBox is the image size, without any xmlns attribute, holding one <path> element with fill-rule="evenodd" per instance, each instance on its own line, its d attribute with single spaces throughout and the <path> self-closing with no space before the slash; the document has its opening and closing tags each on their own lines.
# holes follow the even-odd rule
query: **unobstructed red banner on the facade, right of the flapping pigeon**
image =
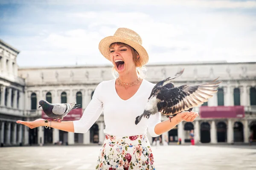
<svg viewBox="0 0 256 170">
<path fill-rule="evenodd" d="M 201 118 L 242 118 L 244 106 L 201 106 Z"/>
</svg>

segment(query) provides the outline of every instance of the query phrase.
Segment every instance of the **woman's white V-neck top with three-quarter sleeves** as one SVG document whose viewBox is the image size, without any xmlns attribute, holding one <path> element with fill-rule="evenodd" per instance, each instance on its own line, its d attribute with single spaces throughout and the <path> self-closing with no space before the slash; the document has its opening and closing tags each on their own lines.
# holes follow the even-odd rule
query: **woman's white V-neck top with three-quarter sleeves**
<svg viewBox="0 0 256 170">
<path fill-rule="evenodd" d="M 154 84 L 143 79 L 140 88 L 130 99 L 123 100 L 116 93 L 115 79 L 103 81 L 96 87 L 92 100 L 84 110 L 80 120 L 73 121 L 75 133 L 86 133 L 90 127 L 104 113 L 104 133 L 113 136 L 134 136 L 146 134 L 159 136 L 154 127 L 160 123 L 160 112 L 151 115 L 149 119 L 142 118 L 135 125 L 135 119 L 140 116 L 148 102 L 148 97 Z"/>
</svg>

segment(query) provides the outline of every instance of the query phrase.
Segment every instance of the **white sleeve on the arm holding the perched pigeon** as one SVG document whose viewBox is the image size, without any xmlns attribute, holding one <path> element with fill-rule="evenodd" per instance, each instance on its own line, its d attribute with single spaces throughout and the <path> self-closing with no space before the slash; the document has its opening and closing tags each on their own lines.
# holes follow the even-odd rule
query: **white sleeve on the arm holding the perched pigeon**
<svg viewBox="0 0 256 170">
<path fill-rule="evenodd" d="M 85 108 L 81 119 L 73 121 L 75 133 L 86 133 L 102 113 L 102 82 L 96 87 L 92 100 Z"/>
</svg>

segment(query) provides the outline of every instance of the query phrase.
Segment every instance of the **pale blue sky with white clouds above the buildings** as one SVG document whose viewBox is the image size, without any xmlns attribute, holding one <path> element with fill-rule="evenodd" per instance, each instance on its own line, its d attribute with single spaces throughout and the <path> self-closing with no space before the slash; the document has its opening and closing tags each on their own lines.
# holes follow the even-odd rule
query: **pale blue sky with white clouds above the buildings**
<svg viewBox="0 0 256 170">
<path fill-rule="evenodd" d="M 256 1 L 0 0 L 0 39 L 19 67 L 110 65 L 117 28 L 142 37 L 148 64 L 256 62 Z"/>
</svg>

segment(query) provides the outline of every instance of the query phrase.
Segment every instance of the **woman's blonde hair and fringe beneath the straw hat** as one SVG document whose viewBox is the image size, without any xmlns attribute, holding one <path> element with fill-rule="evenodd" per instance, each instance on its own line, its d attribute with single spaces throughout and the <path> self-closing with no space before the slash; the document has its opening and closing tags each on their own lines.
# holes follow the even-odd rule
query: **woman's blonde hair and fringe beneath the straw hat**
<svg viewBox="0 0 256 170">
<path fill-rule="evenodd" d="M 132 58 L 133 58 L 133 61 L 135 63 L 135 66 L 136 66 L 137 75 L 140 78 L 145 78 L 147 69 L 146 69 L 145 65 L 141 65 L 140 60 L 139 60 L 140 55 L 138 54 L 138 52 L 133 47 L 131 47 L 130 45 L 127 45 L 127 44 L 122 43 L 122 42 L 113 42 L 109 46 L 109 48 L 112 48 L 113 45 L 123 45 L 125 47 L 128 47 L 128 48 L 130 47 L 131 48 L 131 54 L 132 54 Z M 139 57 L 137 57 L 137 55 L 139 55 Z M 119 76 L 118 72 L 116 71 L 115 66 L 113 66 L 113 68 L 112 68 L 112 75 L 113 75 L 114 78 L 117 78 Z"/>
</svg>

